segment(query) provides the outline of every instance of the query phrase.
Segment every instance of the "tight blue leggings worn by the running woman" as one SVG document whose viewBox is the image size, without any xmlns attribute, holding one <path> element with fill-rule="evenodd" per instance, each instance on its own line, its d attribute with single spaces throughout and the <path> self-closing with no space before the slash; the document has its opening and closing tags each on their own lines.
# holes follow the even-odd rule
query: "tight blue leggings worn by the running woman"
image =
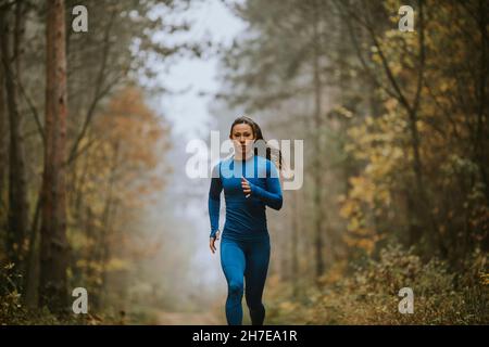
<svg viewBox="0 0 489 347">
<path fill-rule="evenodd" d="M 227 280 L 226 319 L 229 325 L 242 324 L 243 278 L 252 325 L 263 325 L 263 287 L 269 262 L 269 236 L 260 241 L 221 241 L 221 266 Z"/>
</svg>

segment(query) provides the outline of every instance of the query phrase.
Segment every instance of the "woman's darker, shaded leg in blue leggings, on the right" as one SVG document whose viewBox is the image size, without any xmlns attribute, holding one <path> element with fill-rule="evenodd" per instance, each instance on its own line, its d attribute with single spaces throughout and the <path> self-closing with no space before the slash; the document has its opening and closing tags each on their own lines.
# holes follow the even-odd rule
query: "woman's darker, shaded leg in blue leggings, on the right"
<svg viewBox="0 0 489 347">
<path fill-rule="evenodd" d="M 248 247 L 246 279 L 246 298 L 250 309 L 252 325 L 263 325 L 265 307 L 262 303 L 263 288 L 269 262 L 269 239 L 253 242 Z"/>
</svg>

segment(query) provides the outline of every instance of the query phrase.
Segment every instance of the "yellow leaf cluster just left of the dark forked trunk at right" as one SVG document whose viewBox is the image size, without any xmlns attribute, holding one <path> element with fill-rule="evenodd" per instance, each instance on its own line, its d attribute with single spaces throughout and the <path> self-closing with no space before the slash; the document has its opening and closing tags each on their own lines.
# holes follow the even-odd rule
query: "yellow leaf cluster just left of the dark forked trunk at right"
<svg viewBox="0 0 489 347">
<path fill-rule="evenodd" d="M 366 164 L 359 176 L 349 179 L 349 192 L 339 198 L 340 216 L 347 220 L 343 240 L 366 253 L 383 237 L 374 219 L 385 218 L 390 210 L 392 188 L 409 166 L 403 149 L 406 123 L 398 108 L 397 100 L 387 99 L 384 115 L 366 116 L 348 132 L 346 151 Z"/>
</svg>

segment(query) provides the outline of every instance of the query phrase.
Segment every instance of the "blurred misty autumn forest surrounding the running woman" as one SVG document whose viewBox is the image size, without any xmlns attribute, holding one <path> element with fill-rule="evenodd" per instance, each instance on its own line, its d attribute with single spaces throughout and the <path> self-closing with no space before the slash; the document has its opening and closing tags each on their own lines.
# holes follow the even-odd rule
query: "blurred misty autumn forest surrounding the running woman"
<svg viewBox="0 0 489 347">
<path fill-rule="evenodd" d="M 203 2 L 0 1 L 0 323 L 225 323 L 210 180 L 155 102 L 177 98 L 156 66 L 190 59 L 218 62 L 202 140 L 242 113 L 304 140 L 267 210 L 265 324 L 488 324 L 489 2 L 212 1 L 230 44 L 156 39 Z"/>
</svg>

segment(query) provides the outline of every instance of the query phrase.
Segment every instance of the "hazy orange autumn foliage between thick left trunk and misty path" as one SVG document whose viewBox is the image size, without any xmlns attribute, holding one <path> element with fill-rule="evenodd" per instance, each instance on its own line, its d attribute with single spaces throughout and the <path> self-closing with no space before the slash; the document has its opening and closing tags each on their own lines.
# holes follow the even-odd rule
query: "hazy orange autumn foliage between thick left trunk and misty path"
<svg viewBox="0 0 489 347">
<path fill-rule="evenodd" d="M 164 167 L 158 165 L 170 149 L 168 133 L 168 125 L 137 88 L 113 95 L 93 117 L 79 145 L 85 150 L 70 167 L 67 191 L 67 236 L 88 282 L 101 284 L 104 271 L 127 270 L 124 256 L 159 252 L 160 242 L 138 247 L 125 234 L 134 232 L 135 217 L 164 185 Z M 113 258 L 101 259 L 105 248 Z"/>
</svg>

